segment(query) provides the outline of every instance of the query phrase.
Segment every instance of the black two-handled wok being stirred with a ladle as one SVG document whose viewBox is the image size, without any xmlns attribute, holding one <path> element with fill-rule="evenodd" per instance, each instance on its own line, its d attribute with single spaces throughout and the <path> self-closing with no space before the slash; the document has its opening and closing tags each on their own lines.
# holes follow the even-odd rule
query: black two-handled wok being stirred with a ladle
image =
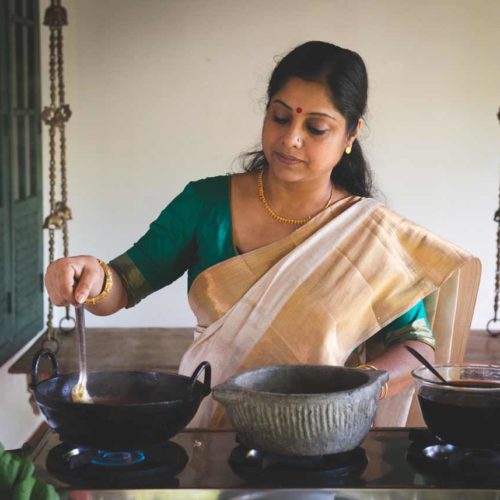
<svg viewBox="0 0 500 500">
<path fill-rule="evenodd" d="M 52 376 L 39 382 L 43 357 L 52 363 Z M 203 383 L 197 381 L 202 371 Z M 87 388 L 95 402 L 88 404 L 72 401 L 78 373 L 59 375 L 52 352 L 39 351 L 32 366 L 35 400 L 61 440 L 110 451 L 146 448 L 177 434 L 210 394 L 210 378 L 206 361 L 191 377 L 162 372 L 90 372 Z"/>
</svg>

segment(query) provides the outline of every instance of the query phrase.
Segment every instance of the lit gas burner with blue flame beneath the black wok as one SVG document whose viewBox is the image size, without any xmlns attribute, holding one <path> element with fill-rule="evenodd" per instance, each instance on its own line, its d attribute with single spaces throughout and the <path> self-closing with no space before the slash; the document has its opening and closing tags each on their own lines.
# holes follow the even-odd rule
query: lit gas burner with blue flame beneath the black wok
<svg viewBox="0 0 500 500">
<path fill-rule="evenodd" d="M 167 442 L 147 450 L 109 452 L 62 443 L 47 456 L 47 469 L 72 486 L 94 488 L 176 488 L 186 466 L 182 446 Z"/>
</svg>

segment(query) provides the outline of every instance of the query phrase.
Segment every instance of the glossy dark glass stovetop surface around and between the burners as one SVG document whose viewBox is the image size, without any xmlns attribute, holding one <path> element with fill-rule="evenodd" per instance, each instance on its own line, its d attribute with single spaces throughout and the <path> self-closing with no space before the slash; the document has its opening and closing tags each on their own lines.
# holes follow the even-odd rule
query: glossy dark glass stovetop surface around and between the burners
<svg viewBox="0 0 500 500">
<path fill-rule="evenodd" d="M 361 475 L 355 477 L 339 477 L 331 479 L 327 485 L 327 489 L 334 490 L 354 490 L 368 491 L 378 490 L 382 493 L 383 490 L 413 490 L 411 496 L 397 496 L 397 498 L 430 498 L 427 496 L 415 496 L 417 490 L 469 490 L 467 498 L 498 498 L 491 497 L 492 490 L 500 490 L 500 473 L 496 474 L 496 479 L 489 480 L 487 483 L 482 479 L 467 479 L 465 480 L 460 475 L 434 473 L 425 470 L 418 470 L 418 467 L 411 465 L 408 461 L 408 450 L 412 441 L 409 436 L 409 429 L 374 429 L 371 430 L 362 443 L 362 447 L 366 452 L 368 464 Z M 231 451 L 236 446 L 235 434 L 232 431 L 184 431 L 179 433 L 172 439 L 173 442 L 181 445 L 189 456 L 189 462 L 177 475 L 178 485 L 176 486 L 177 496 L 182 498 L 180 490 L 197 489 L 197 490 L 257 490 L 259 488 L 272 489 L 272 484 L 258 484 L 249 482 L 239 477 L 233 472 L 228 458 Z M 70 492 L 74 490 L 71 485 L 61 482 L 51 475 L 46 469 L 47 454 L 51 448 L 60 443 L 57 434 L 48 430 L 43 434 L 41 439 L 34 444 L 30 456 L 35 463 L 35 474 L 45 481 L 53 484 L 59 491 Z M 293 488 L 297 488 L 297 474 L 293 473 L 295 483 Z M 287 484 L 279 485 L 287 488 Z M 300 488 L 300 485 L 298 486 Z M 308 484 L 309 490 L 314 490 L 314 484 Z M 318 488 L 323 488 L 325 485 L 318 485 Z M 82 489 L 81 486 L 79 489 Z M 473 495 L 473 489 L 489 490 L 487 496 Z M 312 491 L 311 490 L 311 491 Z M 193 493 L 193 492 L 191 492 Z M 305 490 L 303 491 L 305 494 Z M 443 492 L 444 493 L 444 492 Z M 446 495 L 441 498 L 458 498 L 449 491 L 450 497 Z M 118 495 L 118 493 L 116 492 Z M 77 498 L 71 493 L 68 493 L 70 498 Z M 472 496 L 471 496 L 472 495 Z M 391 495 L 392 496 L 392 495 Z M 383 496 L 383 498 L 391 498 L 391 496 Z M 334 498 L 329 496 L 328 498 Z M 81 498 L 81 497 L 78 497 Z M 85 498 L 133 498 L 133 496 L 86 496 Z M 143 498 L 143 496 L 141 496 Z M 144 498 L 170 498 L 168 496 L 151 496 L 147 495 Z M 186 498 L 196 498 L 191 494 Z M 212 496 L 210 498 L 222 498 L 221 496 Z M 226 498 L 226 497 L 224 497 Z M 235 497 L 227 497 L 235 498 Z M 245 497 L 246 498 L 246 497 Z M 249 497 L 250 498 L 250 497 Z M 251 497 L 254 498 L 254 497 Z M 260 498 L 260 497 L 255 497 Z M 306 498 L 306 496 L 304 496 Z M 316 497 L 314 497 L 316 498 Z M 318 497 L 319 498 L 319 497 Z M 351 498 L 349 496 L 343 498 Z M 365 497 L 361 494 L 353 498 L 382 498 L 378 495 Z M 436 498 L 433 496 L 433 498 Z"/>
</svg>

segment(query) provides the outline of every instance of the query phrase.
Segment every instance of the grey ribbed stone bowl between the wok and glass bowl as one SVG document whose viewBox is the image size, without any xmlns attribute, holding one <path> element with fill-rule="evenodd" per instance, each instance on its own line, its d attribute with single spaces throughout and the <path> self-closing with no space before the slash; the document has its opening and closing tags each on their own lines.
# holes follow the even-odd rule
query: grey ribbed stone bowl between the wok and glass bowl
<svg viewBox="0 0 500 500">
<path fill-rule="evenodd" d="M 380 370 L 276 365 L 239 373 L 212 395 L 245 446 L 278 455 L 325 455 L 359 446 L 388 378 Z"/>
</svg>

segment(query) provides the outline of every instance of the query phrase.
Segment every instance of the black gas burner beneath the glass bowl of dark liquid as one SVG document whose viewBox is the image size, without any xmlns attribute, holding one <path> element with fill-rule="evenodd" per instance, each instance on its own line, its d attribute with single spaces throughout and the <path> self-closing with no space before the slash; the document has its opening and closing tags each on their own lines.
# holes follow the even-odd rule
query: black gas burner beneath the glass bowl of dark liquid
<svg viewBox="0 0 500 500">
<path fill-rule="evenodd" d="M 410 431 L 413 441 L 406 459 L 420 473 L 453 479 L 463 485 L 481 481 L 500 485 L 500 450 L 461 448 L 446 444 L 426 429 Z"/>
</svg>

